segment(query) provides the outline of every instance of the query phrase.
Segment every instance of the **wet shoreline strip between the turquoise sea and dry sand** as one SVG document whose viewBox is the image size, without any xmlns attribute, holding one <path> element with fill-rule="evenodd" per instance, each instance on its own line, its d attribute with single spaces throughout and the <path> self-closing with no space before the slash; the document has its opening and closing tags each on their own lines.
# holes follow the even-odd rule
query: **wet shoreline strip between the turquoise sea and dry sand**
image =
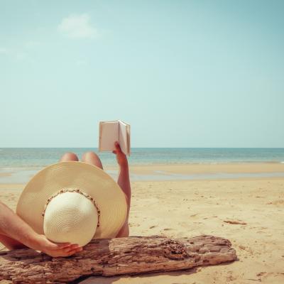
<svg viewBox="0 0 284 284">
<path fill-rule="evenodd" d="M 0 183 L 26 183 L 42 168 L 0 168 Z M 117 178 L 117 165 L 104 170 Z M 129 171 L 131 181 L 284 178 L 284 163 L 130 164 Z"/>
</svg>

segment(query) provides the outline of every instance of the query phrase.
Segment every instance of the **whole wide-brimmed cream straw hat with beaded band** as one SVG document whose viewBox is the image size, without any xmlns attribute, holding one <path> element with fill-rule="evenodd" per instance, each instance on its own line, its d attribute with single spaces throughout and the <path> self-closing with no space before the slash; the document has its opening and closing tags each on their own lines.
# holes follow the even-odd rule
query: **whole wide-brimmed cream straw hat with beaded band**
<svg viewBox="0 0 284 284">
<path fill-rule="evenodd" d="M 126 195 L 95 165 L 60 162 L 31 178 L 16 213 L 51 241 L 84 246 L 92 239 L 116 237 L 126 221 Z"/>
</svg>

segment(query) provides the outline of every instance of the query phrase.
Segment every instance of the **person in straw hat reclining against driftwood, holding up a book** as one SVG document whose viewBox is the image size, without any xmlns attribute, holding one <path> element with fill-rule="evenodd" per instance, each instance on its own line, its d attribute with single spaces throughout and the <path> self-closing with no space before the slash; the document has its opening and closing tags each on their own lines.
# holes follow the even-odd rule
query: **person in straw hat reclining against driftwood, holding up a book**
<svg viewBox="0 0 284 284">
<path fill-rule="evenodd" d="M 119 178 L 117 180 L 117 183 L 114 182 L 114 180 L 112 180 L 109 175 L 107 175 L 103 171 L 102 162 L 96 153 L 84 153 L 84 155 L 82 156 L 83 163 L 79 161 L 75 153 L 65 153 L 64 155 L 62 155 L 62 158 L 60 158 L 60 163 L 51 165 L 48 168 L 41 170 L 40 173 L 35 175 L 35 177 L 30 182 L 28 182 L 19 199 L 16 214 L 9 207 L 0 202 L 0 242 L 4 244 L 7 249 L 23 249 L 28 247 L 36 251 L 43 251 L 50 256 L 58 257 L 71 256 L 74 253 L 82 251 L 82 246 L 87 244 L 91 239 L 95 239 L 96 236 L 98 236 L 100 239 L 104 237 L 118 238 L 129 236 L 128 219 L 131 203 L 129 165 L 126 155 L 121 151 L 121 148 L 117 141 L 115 143 L 115 148 L 116 150 L 113 151 L 113 153 L 116 154 L 116 160 L 119 164 Z M 79 163 L 73 163 L 75 161 Z M 48 183 L 48 177 L 50 177 L 50 169 L 53 170 L 51 172 L 52 179 Z M 58 169 L 60 170 L 56 171 Z M 72 172 L 73 169 L 74 172 Z M 71 174 L 67 172 L 68 170 Z M 57 173 L 60 173 L 60 175 L 56 176 Z M 62 173 L 65 173 L 65 175 L 70 175 L 67 179 L 64 180 L 62 178 Z M 89 173 L 95 173 L 96 175 L 90 175 Z M 43 175 L 44 177 L 40 178 L 40 176 Z M 53 180 L 56 181 L 54 182 Z M 40 181 L 40 183 L 35 184 L 34 181 Z M 46 183 L 48 183 L 49 189 L 50 187 L 52 187 L 51 184 L 58 185 L 60 184 L 60 182 L 65 182 L 65 184 L 66 182 L 70 182 L 72 188 L 70 187 L 69 183 L 67 183 L 67 188 L 62 190 L 62 187 L 60 187 L 60 191 L 57 191 L 56 193 L 53 192 L 53 195 L 48 198 L 47 202 L 46 200 L 44 200 L 45 209 L 43 216 L 41 216 L 41 212 L 40 214 L 37 213 L 37 208 L 38 206 L 41 206 L 40 209 L 43 209 L 43 204 L 38 205 L 40 203 L 40 200 L 42 200 L 43 198 L 41 198 L 42 196 L 33 197 L 34 195 L 37 195 L 38 192 L 43 192 L 41 187 L 39 187 L 38 185 L 40 184 L 43 185 L 42 187 L 45 187 Z M 114 184 L 112 184 L 111 182 L 114 182 Z M 81 184 L 84 184 L 84 186 L 82 186 L 82 189 L 79 189 Z M 91 188 L 89 192 L 87 192 L 88 185 Z M 104 188 L 102 188 L 101 190 L 100 188 L 93 189 L 93 187 L 96 187 L 94 185 L 100 185 Z M 117 185 L 119 185 L 122 192 L 117 188 L 115 190 L 111 188 L 117 187 Z M 108 186 L 110 188 L 107 188 Z M 36 191 L 35 187 L 37 189 Z M 96 190 L 97 193 L 92 192 Z M 46 195 L 46 192 L 43 193 L 45 193 Z M 29 197 L 27 197 L 27 195 Z M 31 200 L 31 197 L 34 198 L 34 200 L 32 201 L 33 204 L 28 204 L 29 200 Z M 111 197 L 113 197 L 113 200 L 111 200 Z M 121 200 L 120 203 L 114 203 L 116 202 L 116 199 L 119 198 Z M 23 202 L 23 200 L 25 202 Z M 75 205 L 70 205 L 70 200 L 75 200 Z M 99 204 L 96 202 L 96 200 L 99 200 Z M 64 207 L 64 202 L 69 203 Z M 82 204 L 84 204 L 83 207 Z M 81 209 L 80 206 L 82 207 Z M 72 207 L 72 210 L 74 212 L 72 214 L 74 215 L 70 214 L 70 212 L 67 212 L 68 216 L 62 217 L 64 219 L 63 222 L 62 219 L 60 220 L 60 226 L 58 226 L 58 224 L 55 224 L 54 222 L 56 222 L 56 220 L 60 218 L 59 214 L 61 213 L 58 212 L 64 213 L 67 209 L 69 210 L 70 207 Z M 116 207 L 119 209 L 116 209 Z M 115 210 L 120 211 L 114 213 Z M 95 212 L 95 214 L 89 212 Z M 30 216 L 28 216 L 28 214 L 30 214 Z M 94 226 L 93 224 L 88 223 L 89 221 L 85 221 L 84 219 L 86 216 L 88 218 L 93 217 L 90 216 L 90 214 L 95 215 L 94 218 L 96 220 L 96 223 L 94 224 Z M 107 217 L 108 214 L 110 215 L 110 217 Z M 68 219 L 70 218 L 70 216 L 73 219 L 79 219 L 80 222 L 76 223 L 75 220 L 75 224 L 73 222 L 73 219 L 69 219 L 69 221 L 66 221 L 65 226 L 64 222 L 66 218 Z M 109 218 L 109 221 L 107 221 L 107 218 Z M 28 222 L 26 222 L 26 220 L 28 220 Z M 36 224 L 36 222 L 39 222 L 38 224 L 40 224 L 41 227 L 44 226 L 44 232 L 43 228 L 38 229 L 38 224 Z M 111 222 L 113 222 L 113 224 Z M 55 230 L 54 228 L 51 228 L 53 226 L 52 224 L 55 224 L 55 226 L 57 226 Z M 70 226 L 73 226 L 72 229 L 70 229 L 69 224 L 71 224 Z M 68 228 L 67 225 L 69 226 Z M 93 231 L 92 229 L 89 229 L 89 227 L 91 226 L 94 227 Z M 114 226 L 119 229 L 113 229 Z M 61 232 L 60 229 L 62 229 Z M 48 237 L 45 233 L 50 237 Z"/>
</svg>

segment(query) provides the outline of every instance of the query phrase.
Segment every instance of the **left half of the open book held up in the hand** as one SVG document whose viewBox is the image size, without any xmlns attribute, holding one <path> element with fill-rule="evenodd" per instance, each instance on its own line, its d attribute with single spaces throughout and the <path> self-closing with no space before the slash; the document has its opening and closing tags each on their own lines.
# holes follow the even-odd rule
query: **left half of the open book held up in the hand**
<svg viewBox="0 0 284 284">
<path fill-rule="evenodd" d="M 99 123 L 99 151 L 115 150 L 115 141 L 119 141 L 119 121 L 101 121 Z"/>
</svg>

